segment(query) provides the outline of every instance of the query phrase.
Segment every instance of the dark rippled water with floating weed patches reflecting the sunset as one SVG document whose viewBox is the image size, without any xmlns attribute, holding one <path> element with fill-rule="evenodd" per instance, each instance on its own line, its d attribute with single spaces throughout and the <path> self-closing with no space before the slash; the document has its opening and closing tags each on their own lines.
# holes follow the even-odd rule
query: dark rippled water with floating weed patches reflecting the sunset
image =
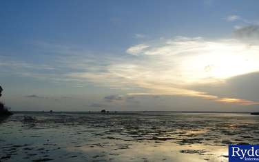
<svg viewBox="0 0 259 162">
<path fill-rule="evenodd" d="M 258 128 L 250 114 L 20 112 L 0 121 L 0 161 L 227 161 Z"/>
</svg>

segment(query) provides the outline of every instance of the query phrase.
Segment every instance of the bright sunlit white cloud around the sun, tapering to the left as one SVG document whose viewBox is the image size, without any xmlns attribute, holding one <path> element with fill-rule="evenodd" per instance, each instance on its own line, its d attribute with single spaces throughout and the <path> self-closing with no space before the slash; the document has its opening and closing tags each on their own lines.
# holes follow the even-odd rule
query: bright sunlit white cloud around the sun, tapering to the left
<svg viewBox="0 0 259 162">
<path fill-rule="evenodd" d="M 145 45 L 145 48 L 143 47 Z M 175 37 L 158 43 L 141 43 L 127 49 L 137 49 L 136 57 L 105 66 L 105 72 L 77 72 L 70 77 L 86 79 L 118 88 L 132 87 L 129 95 L 178 95 L 199 97 L 220 103 L 240 105 L 257 101 L 218 96 L 203 90 L 191 90 L 189 85 L 224 84 L 231 77 L 259 71 L 259 45 L 249 45 L 239 39 L 207 40 L 201 37 Z M 133 50 L 134 51 L 134 50 Z M 131 53 L 132 54 L 132 53 Z M 141 57 L 145 56 L 145 57 Z M 121 101 L 111 95 L 107 101 Z"/>
</svg>

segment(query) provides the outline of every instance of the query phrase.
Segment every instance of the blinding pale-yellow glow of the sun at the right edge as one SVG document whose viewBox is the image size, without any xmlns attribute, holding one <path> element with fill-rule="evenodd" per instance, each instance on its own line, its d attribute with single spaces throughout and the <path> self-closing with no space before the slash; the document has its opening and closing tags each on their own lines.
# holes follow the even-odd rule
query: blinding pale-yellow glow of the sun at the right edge
<svg viewBox="0 0 259 162">
<path fill-rule="evenodd" d="M 207 43 L 184 58 L 180 70 L 185 81 L 210 82 L 259 70 L 258 46 L 239 42 Z"/>
</svg>

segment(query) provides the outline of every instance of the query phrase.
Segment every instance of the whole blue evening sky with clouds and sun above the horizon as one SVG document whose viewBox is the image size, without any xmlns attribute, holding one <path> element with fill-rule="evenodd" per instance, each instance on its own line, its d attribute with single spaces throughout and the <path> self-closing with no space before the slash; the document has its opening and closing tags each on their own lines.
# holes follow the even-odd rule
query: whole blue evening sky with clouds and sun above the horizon
<svg viewBox="0 0 259 162">
<path fill-rule="evenodd" d="M 0 1 L 12 110 L 259 111 L 259 1 Z"/>
</svg>

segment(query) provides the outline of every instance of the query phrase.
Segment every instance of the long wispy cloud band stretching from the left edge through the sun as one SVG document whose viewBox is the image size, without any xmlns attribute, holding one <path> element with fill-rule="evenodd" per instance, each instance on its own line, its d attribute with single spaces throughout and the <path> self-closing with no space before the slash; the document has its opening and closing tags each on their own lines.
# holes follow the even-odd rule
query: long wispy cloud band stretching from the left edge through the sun
<svg viewBox="0 0 259 162">
<path fill-rule="evenodd" d="M 251 32 L 245 34 L 251 35 L 257 30 L 249 28 L 249 31 Z M 85 57 L 86 51 L 76 50 L 74 54 L 73 51 L 65 54 L 62 52 L 62 55 L 55 56 L 54 62 L 48 65 L 6 63 L 1 60 L 0 66 L 11 68 L 11 65 L 14 65 L 17 72 L 21 72 L 24 77 L 56 82 L 70 81 L 74 85 L 92 82 L 109 88 L 130 89 L 129 96 L 178 95 L 221 103 L 253 105 L 258 102 L 220 97 L 190 90 L 188 86 L 224 83 L 229 77 L 256 72 L 259 70 L 258 51 L 258 43 L 251 45 L 237 37 L 214 40 L 175 37 L 132 45 L 125 50 L 127 54 L 121 58 L 94 57 L 94 54 L 87 54 Z M 105 97 L 105 101 L 110 102 L 125 100 L 127 99 L 121 95 Z"/>
</svg>

